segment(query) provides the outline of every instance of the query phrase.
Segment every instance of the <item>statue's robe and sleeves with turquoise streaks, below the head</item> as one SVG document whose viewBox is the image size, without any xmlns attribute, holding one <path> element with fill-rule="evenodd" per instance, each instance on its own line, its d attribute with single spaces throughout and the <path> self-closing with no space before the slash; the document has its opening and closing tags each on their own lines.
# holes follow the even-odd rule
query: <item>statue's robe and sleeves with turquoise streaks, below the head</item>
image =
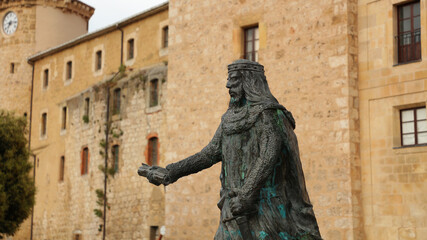
<svg viewBox="0 0 427 240">
<path fill-rule="evenodd" d="M 321 239 L 294 128 L 291 113 L 277 103 L 229 108 L 201 152 L 166 167 L 176 181 L 222 162 L 216 240 L 242 239 L 231 212 L 228 193 L 232 189 L 251 203 L 245 214 L 254 239 Z"/>
</svg>

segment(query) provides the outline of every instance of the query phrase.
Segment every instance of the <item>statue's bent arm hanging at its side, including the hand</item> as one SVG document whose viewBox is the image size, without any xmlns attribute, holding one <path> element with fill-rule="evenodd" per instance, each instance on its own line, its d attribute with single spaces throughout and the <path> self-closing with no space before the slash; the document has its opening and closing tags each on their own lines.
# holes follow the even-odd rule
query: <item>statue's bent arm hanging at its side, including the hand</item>
<svg viewBox="0 0 427 240">
<path fill-rule="evenodd" d="M 242 188 L 234 193 L 236 197 L 232 199 L 231 203 L 234 215 L 244 214 L 250 210 L 259 196 L 259 190 L 271 176 L 279 161 L 282 139 L 274 114 L 276 114 L 276 110 L 265 110 L 261 113 L 261 119 L 258 120 L 262 121 L 259 124 L 261 127 L 260 157 L 254 162 Z"/>
</svg>

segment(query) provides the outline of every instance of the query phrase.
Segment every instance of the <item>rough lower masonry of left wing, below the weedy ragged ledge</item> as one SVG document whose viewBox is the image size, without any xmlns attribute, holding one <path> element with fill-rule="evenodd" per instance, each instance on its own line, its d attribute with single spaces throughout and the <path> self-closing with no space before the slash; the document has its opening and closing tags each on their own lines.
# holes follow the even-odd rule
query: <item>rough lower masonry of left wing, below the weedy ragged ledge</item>
<svg viewBox="0 0 427 240">
<path fill-rule="evenodd" d="M 107 239 L 149 239 L 150 226 L 164 225 L 164 191 L 139 177 L 136 170 L 146 162 L 146 136 L 156 133 L 160 141 L 159 162 L 163 161 L 162 142 L 165 139 L 164 105 L 166 94 L 166 67 L 159 65 L 149 69 L 128 71 L 118 81 L 104 82 L 88 88 L 66 100 L 69 128 L 65 137 L 65 177 L 58 183 L 54 209 L 45 211 L 35 219 L 35 239 L 71 239 L 81 233 L 83 239 L 99 239 L 102 219 L 93 210 L 96 204 L 95 190 L 104 188 L 106 97 L 121 88 L 121 111 L 111 116 L 109 137 L 109 166 L 113 164 L 111 147 L 119 145 L 119 172 L 110 177 L 107 185 Z M 147 108 L 148 81 L 153 77 L 163 79 L 160 107 L 154 112 Z M 85 99 L 90 98 L 89 121 L 83 121 Z M 112 103 L 112 102 L 111 102 Z M 110 111 L 112 111 L 110 104 Z M 81 152 L 89 149 L 89 173 L 81 175 Z M 56 182 L 56 179 L 52 179 Z M 47 214 L 47 215 L 46 215 Z"/>
</svg>

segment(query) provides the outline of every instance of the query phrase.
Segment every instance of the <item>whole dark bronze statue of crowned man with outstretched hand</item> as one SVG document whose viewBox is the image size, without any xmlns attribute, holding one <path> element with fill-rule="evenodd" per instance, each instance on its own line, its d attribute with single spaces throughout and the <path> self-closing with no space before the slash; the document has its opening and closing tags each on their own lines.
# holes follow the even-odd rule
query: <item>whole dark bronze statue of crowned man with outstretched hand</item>
<svg viewBox="0 0 427 240">
<path fill-rule="evenodd" d="M 216 240 L 321 239 L 304 174 L 292 114 L 271 94 L 264 67 L 228 65 L 230 103 L 211 142 L 184 160 L 140 167 L 168 185 L 221 162 L 221 217 Z"/>
</svg>

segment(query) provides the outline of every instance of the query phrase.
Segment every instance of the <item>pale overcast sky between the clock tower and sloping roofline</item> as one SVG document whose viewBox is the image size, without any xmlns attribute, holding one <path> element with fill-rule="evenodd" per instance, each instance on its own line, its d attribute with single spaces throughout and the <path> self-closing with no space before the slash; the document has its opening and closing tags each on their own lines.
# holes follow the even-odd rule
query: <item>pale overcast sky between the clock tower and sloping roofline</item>
<svg viewBox="0 0 427 240">
<path fill-rule="evenodd" d="M 109 26 L 143 12 L 167 0 L 80 0 L 95 8 L 89 21 L 89 32 Z"/>
</svg>

